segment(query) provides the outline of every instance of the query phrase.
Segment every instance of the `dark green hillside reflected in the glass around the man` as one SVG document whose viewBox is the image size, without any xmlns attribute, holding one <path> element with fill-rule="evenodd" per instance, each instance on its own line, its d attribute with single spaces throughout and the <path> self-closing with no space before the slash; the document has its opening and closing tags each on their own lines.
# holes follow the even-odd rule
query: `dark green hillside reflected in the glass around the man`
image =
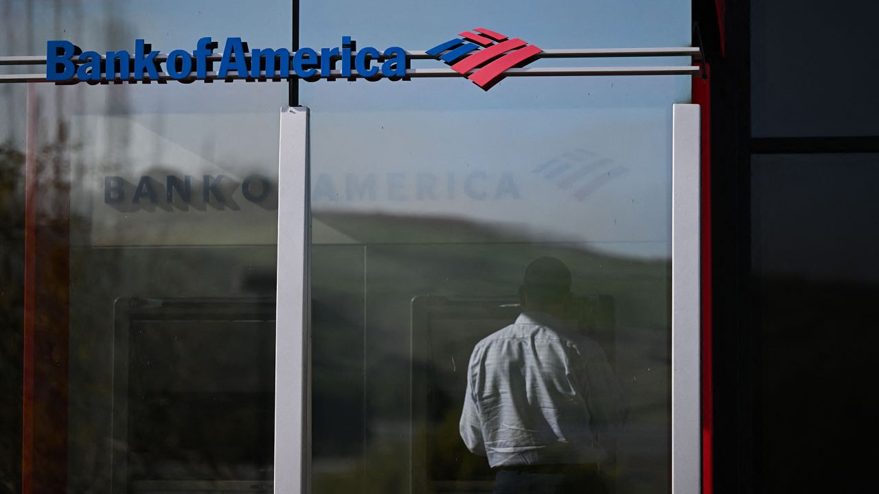
<svg viewBox="0 0 879 494">
<path fill-rule="evenodd" d="M 628 397 L 625 431 L 599 440 L 607 485 L 665 491 L 667 263 L 483 241 L 315 246 L 316 492 L 493 489 L 496 472 L 459 433 L 467 363 L 480 340 L 515 322 L 522 272 L 542 256 L 574 266 L 564 321 L 604 349 Z"/>
</svg>

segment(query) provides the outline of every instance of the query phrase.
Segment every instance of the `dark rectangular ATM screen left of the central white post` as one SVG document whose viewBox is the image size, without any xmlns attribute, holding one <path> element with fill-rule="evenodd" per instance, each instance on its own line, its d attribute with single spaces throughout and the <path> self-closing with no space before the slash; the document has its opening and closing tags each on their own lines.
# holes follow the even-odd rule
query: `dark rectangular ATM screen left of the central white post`
<svg viewBox="0 0 879 494">
<path fill-rule="evenodd" d="M 113 492 L 271 490 L 274 302 L 120 299 Z"/>
</svg>

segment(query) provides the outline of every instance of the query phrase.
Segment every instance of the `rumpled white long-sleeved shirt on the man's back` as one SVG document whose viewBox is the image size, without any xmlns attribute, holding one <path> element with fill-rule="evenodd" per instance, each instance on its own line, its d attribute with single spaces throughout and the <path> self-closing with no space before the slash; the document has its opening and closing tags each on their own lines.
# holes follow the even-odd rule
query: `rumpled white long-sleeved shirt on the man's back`
<svg viewBox="0 0 879 494">
<path fill-rule="evenodd" d="M 491 467 L 597 463 L 607 454 L 596 432 L 620 428 L 626 413 L 599 345 L 526 312 L 473 349 L 461 439 Z"/>
</svg>

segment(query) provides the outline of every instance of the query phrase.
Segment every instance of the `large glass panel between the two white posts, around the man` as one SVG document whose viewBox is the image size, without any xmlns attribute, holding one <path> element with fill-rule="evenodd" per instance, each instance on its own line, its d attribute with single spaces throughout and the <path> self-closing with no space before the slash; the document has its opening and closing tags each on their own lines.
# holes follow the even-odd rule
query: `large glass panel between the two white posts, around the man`
<svg viewBox="0 0 879 494">
<path fill-rule="evenodd" d="M 688 46 L 690 33 L 684 2 L 453 2 L 426 18 L 424 4 L 398 2 L 301 9 L 309 47 L 338 46 L 345 34 L 359 47 L 419 50 L 479 26 L 545 49 Z M 312 112 L 316 494 L 491 491 L 496 476 L 500 489 L 520 473 L 575 479 L 563 491 L 668 491 L 671 123 L 672 104 L 690 98 L 689 78 L 511 77 L 490 91 L 457 77 L 319 81 L 300 91 Z M 563 429 L 576 424 L 552 432 L 553 445 L 568 441 L 577 453 L 537 454 L 534 469 L 498 473 L 490 467 L 524 462 L 523 445 L 504 434 L 546 432 L 535 424 L 551 413 L 535 404 L 519 410 L 520 425 L 480 428 L 509 442 L 488 440 L 488 459 L 471 453 L 459 431 L 478 374 L 468 363 L 480 340 L 516 321 L 526 266 L 545 256 L 572 272 L 570 303 L 550 330 L 600 349 L 568 363 L 594 366 L 581 378 L 603 384 L 572 399 L 582 406 L 570 413 L 593 420 L 563 418 Z M 607 410 L 628 411 L 622 432 L 605 428 L 621 420 L 603 422 L 602 405 L 583 401 L 616 386 L 627 405 Z"/>
</svg>

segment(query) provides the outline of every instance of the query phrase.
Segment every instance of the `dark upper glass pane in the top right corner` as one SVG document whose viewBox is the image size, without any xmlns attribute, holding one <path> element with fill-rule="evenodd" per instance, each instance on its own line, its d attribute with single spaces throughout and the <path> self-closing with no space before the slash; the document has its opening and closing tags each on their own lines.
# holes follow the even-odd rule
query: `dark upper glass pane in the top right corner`
<svg viewBox="0 0 879 494">
<path fill-rule="evenodd" d="M 879 66 L 863 62 L 879 5 L 774 0 L 750 9 L 754 137 L 879 134 L 879 96 L 868 84 Z"/>
</svg>

